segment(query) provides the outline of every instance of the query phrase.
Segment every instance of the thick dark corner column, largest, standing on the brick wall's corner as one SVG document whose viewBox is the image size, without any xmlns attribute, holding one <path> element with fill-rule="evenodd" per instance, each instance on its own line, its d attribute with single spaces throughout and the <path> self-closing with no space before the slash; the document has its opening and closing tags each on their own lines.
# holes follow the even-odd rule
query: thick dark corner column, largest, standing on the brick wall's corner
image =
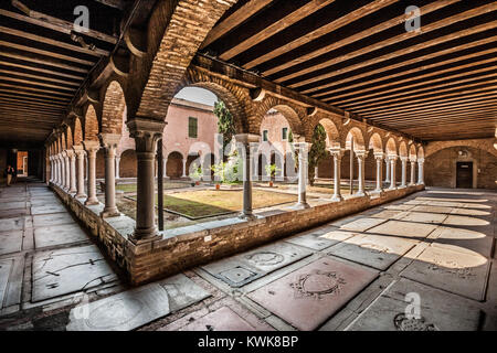
<svg viewBox="0 0 497 353">
<path fill-rule="evenodd" d="M 135 139 L 137 157 L 136 226 L 134 234 L 129 236 L 129 240 L 138 244 L 161 237 L 155 224 L 154 163 L 157 141 L 162 138 L 166 122 L 147 118 L 133 118 L 126 125 L 129 129 L 129 136 Z"/>
</svg>

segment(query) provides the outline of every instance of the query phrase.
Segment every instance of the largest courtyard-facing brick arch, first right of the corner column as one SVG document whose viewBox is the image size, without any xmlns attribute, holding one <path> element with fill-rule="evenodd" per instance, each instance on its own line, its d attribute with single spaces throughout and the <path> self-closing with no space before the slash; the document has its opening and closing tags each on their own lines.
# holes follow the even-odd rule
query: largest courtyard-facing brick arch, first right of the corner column
<svg viewBox="0 0 497 353">
<path fill-rule="evenodd" d="M 187 87 L 199 87 L 212 92 L 233 115 L 237 133 L 254 132 L 250 129 L 254 122 L 254 113 L 248 90 L 228 83 L 216 76 L 189 69 L 175 95 Z M 166 117 L 166 116 L 165 116 Z"/>
</svg>

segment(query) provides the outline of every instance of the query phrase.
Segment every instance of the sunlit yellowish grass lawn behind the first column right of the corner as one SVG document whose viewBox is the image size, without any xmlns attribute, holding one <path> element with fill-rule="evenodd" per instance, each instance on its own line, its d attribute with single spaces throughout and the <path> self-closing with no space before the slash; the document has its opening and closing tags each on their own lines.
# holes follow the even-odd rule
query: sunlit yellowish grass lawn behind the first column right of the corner
<svg viewBox="0 0 497 353">
<path fill-rule="evenodd" d="M 297 196 L 265 190 L 252 191 L 254 208 L 268 207 L 282 203 L 296 202 Z M 200 190 L 165 194 L 165 208 L 191 218 L 215 216 L 229 212 L 240 212 L 243 207 L 243 192 L 230 190 Z"/>
</svg>

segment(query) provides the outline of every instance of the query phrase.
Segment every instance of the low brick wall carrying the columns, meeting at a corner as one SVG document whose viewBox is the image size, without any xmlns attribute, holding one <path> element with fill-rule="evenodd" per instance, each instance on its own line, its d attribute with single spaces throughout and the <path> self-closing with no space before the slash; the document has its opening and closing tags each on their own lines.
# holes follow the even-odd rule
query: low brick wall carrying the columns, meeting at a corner
<svg viewBox="0 0 497 353">
<path fill-rule="evenodd" d="M 99 212 L 104 205 L 85 206 L 84 200 L 74 199 L 56 185 L 52 189 L 98 237 L 110 258 L 127 272 L 130 284 L 141 285 L 404 197 L 424 190 L 424 185 L 342 202 L 317 201 L 307 210 L 268 211 L 258 214 L 260 217 L 254 221 L 233 217 L 205 222 L 162 232 L 162 239 L 141 245 L 128 240 L 134 220 L 126 216 L 103 220 Z"/>
</svg>

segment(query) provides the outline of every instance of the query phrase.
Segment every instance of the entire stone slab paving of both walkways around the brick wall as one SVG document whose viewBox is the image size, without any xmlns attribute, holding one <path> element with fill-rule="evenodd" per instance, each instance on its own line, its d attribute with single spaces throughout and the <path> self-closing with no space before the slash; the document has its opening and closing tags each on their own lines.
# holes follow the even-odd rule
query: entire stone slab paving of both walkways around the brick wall
<svg viewBox="0 0 497 353">
<path fill-rule="evenodd" d="M 18 183 L 0 189 L 0 330 L 497 330 L 496 206 L 429 189 L 129 288 L 46 185 Z"/>
</svg>

